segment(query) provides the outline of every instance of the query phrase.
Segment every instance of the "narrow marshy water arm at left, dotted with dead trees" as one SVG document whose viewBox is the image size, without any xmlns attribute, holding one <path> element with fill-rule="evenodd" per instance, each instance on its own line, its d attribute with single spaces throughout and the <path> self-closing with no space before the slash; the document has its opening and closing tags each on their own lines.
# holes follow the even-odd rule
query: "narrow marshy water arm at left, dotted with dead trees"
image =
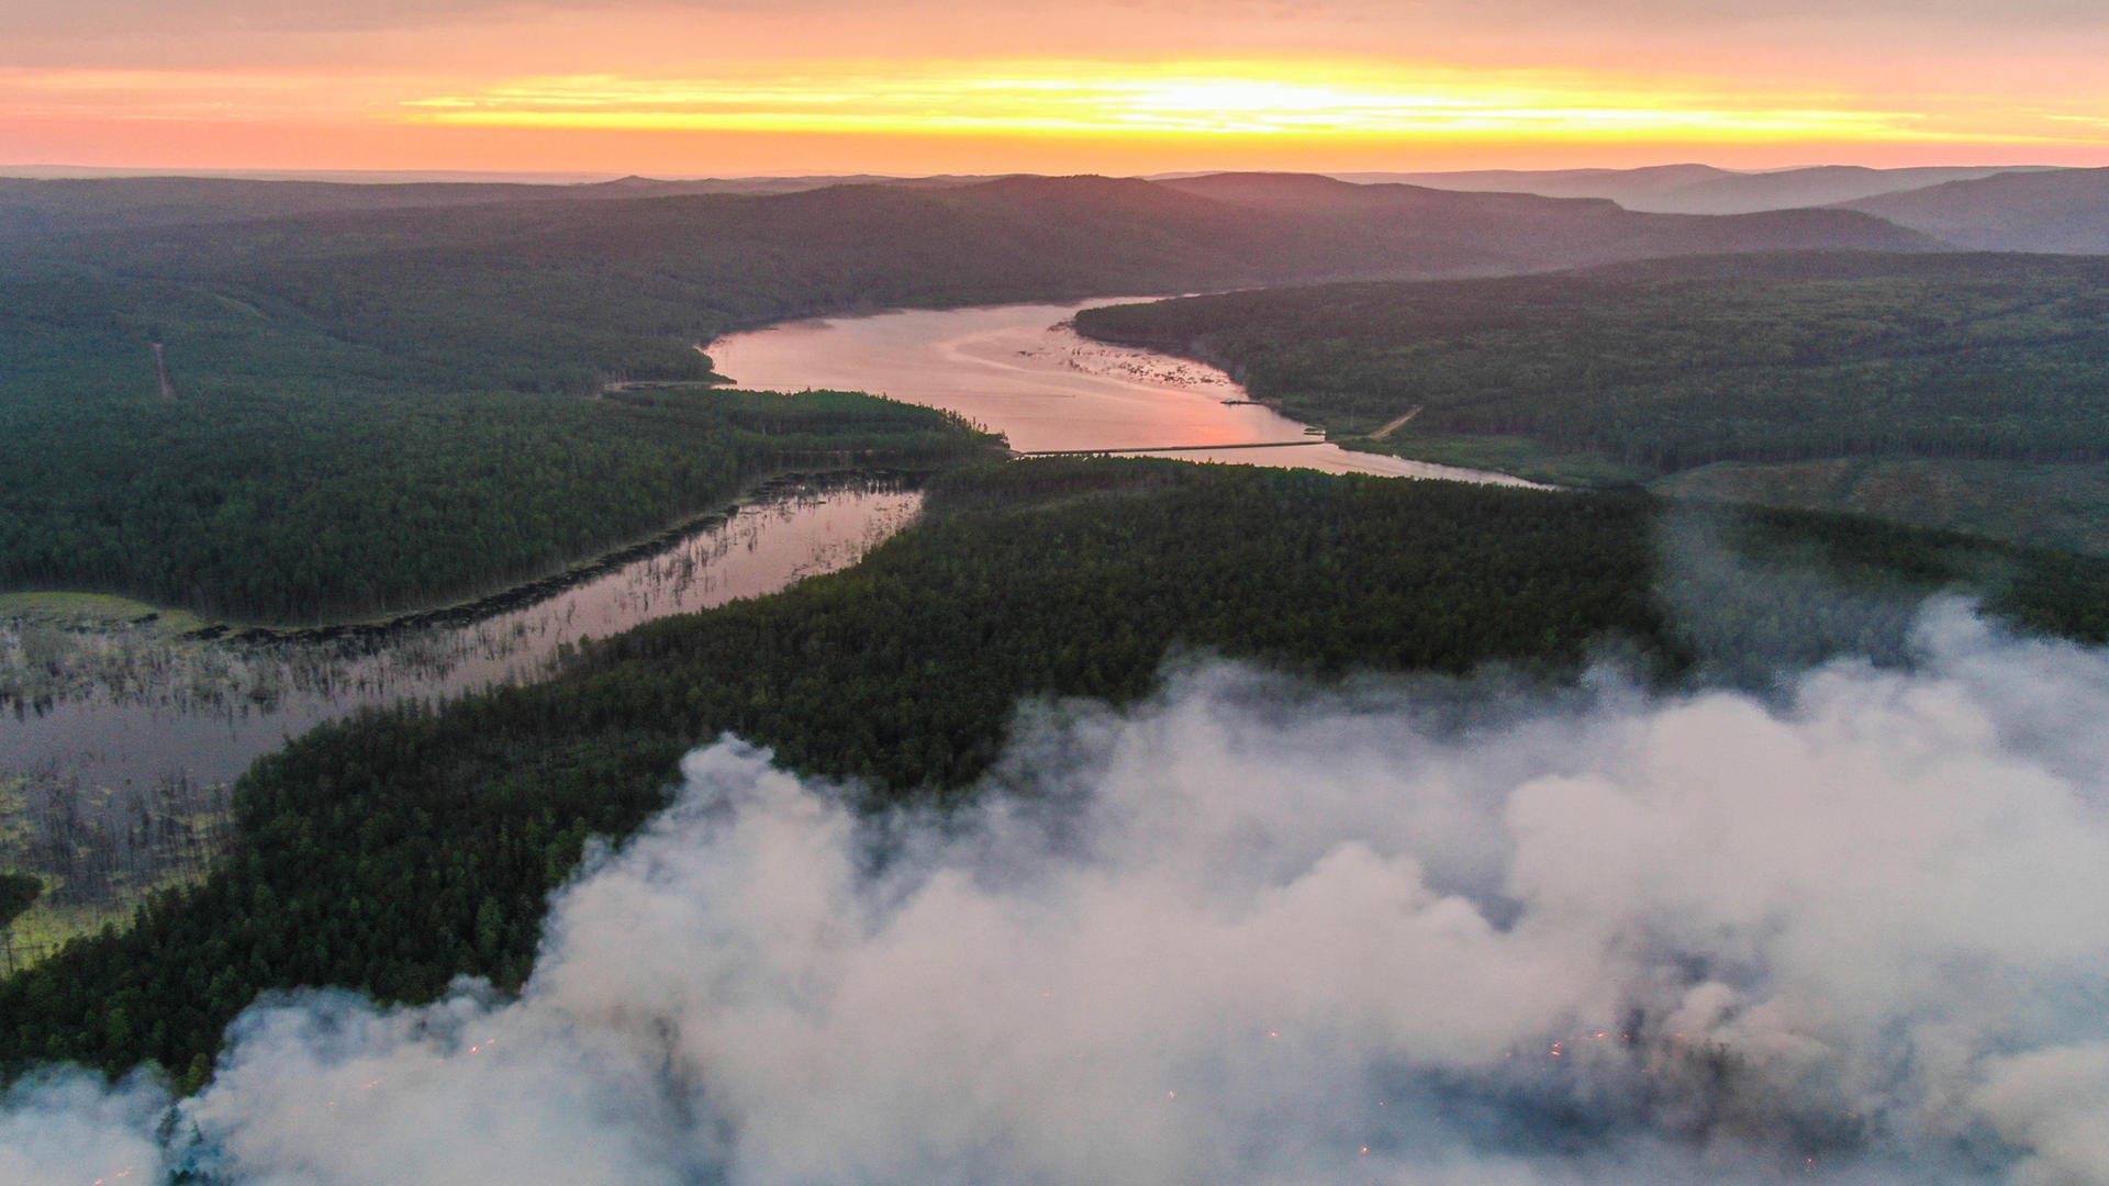
<svg viewBox="0 0 2109 1186">
<path fill-rule="evenodd" d="M 920 502 L 898 481 L 785 492 L 546 601 L 378 639 L 200 642 L 152 627 L 0 623 L 0 779 L 116 800 L 169 777 L 228 781 L 287 737 L 361 707 L 538 680 L 584 637 L 846 568 Z"/>
</svg>

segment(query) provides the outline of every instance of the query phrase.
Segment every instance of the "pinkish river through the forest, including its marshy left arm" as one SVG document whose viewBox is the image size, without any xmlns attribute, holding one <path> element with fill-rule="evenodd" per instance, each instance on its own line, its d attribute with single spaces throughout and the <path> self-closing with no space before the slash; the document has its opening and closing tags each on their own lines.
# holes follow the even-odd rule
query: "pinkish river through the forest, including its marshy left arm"
<svg viewBox="0 0 2109 1186">
<path fill-rule="evenodd" d="M 1170 456 L 1516 481 L 1348 454 L 1244 403 L 1244 390 L 1213 367 L 1078 338 L 1065 327 L 1078 308 L 804 321 L 738 333 L 709 352 L 747 388 L 875 390 L 960 412 L 1019 452 L 1179 447 L 1192 452 Z M 19 844 L 23 825 L 34 834 L 59 804 L 89 821 L 139 821 L 156 802 L 169 810 L 169 787 L 183 791 L 175 800 L 198 800 L 287 737 L 361 707 L 538 680 L 582 637 L 844 568 L 917 506 L 920 494 L 886 481 L 761 492 L 671 549 L 546 601 L 380 639 L 194 639 L 152 625 L 0 620 L 0 844 Z"/>
</svg>

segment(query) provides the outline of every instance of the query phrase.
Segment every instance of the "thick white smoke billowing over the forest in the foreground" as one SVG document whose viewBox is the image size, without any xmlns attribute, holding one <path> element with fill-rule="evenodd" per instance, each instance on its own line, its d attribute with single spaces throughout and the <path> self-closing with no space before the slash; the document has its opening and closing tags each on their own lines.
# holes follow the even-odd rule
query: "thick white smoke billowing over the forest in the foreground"
<svg viewBox="0 0 2109 1186">
<path fill-rule="evenodd" d="M 728 739 L 519 1000 L 247 1013 L 169 1173 L 2109 1182 L 2109 656 L 1957 606 L 1915 648 L 1483 709 L 1189 665 L 1029 713 L 943 821 Z M 0 1133 L 72 1091 L 150 1144 L 57 1091 Z"/>
</svg>

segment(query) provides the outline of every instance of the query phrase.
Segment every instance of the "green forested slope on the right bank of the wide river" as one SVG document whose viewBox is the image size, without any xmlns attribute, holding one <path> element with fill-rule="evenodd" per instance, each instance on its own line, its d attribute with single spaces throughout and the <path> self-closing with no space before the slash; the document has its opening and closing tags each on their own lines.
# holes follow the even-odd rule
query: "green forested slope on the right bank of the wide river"
<svg viewBox="0 0 2109 1186">
<path fill-rule="evenodd" d="M 1660 260 L 1187 298 L 1088 310 L 1078 327 L 1221 363 L 1354 447 L 1556 481 L 1816 458 L 2109 460 L 2103 260 Z"/>
</svg>

